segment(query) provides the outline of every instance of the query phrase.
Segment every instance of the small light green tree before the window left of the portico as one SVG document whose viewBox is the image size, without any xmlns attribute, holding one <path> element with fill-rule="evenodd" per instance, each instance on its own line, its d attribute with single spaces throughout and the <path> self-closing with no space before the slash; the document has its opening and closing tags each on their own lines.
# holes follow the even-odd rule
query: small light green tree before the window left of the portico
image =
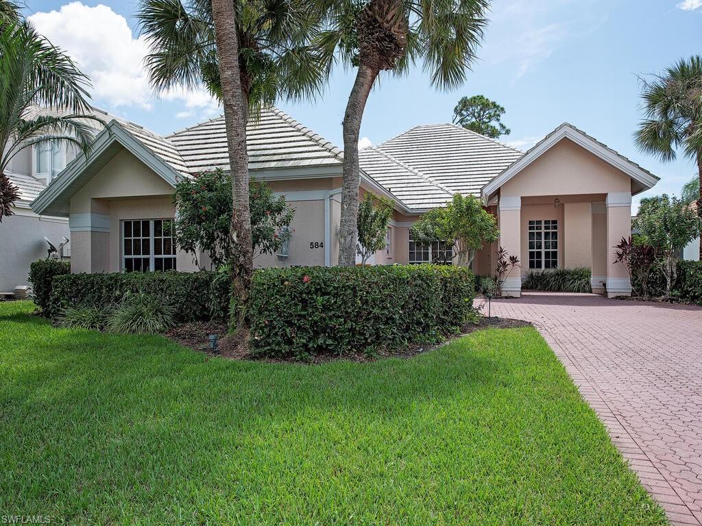
<svg viewBox="0 0 702 526">
<path fill-rule="evenodd" d="M 446 241 L 458 264 L 470 264 L 473 252 L 497 241 L 497 222 L 477 197 L 454 194 L 445 208 L 430 210 L 415 222 L 412 238 L 423 244 Z"/>
</svg>

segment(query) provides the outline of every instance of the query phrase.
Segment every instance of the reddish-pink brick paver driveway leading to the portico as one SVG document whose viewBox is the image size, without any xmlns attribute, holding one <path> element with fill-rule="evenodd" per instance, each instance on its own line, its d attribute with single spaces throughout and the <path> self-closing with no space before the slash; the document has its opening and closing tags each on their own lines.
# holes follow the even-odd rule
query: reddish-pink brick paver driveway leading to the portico
<svg viewBox="0 0 702 526">
<path fill-rule="evenodd" d="M 492 313 L 534 322 L 670 520 L 702 525 L 702 307 L 527 292 Z"/>
</svg>

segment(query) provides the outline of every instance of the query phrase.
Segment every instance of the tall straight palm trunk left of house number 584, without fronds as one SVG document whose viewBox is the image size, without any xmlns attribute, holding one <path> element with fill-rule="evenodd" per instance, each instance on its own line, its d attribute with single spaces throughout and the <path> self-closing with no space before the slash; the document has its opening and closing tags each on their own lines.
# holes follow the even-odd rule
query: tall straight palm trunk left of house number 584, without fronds
<svg viewBox="0 0 702 526">
<path fill-rule="evenodd" d="M 237 330 L 246 327 L 244 306 L 249 298 L 253 276 L 253 243 L 251 238 L 251 211 L 249 210 L 249 156 L 246 154 L 246 121 L 249 104 L 241 86 L 239 71 L 239 40 L 237 13 L 232 0 L 212 0 L 212 18 L 215 22 L 215 41 L 222 83 L 229 165 L 232 176 L 232 227 L 234 246 L 234 295 L 239 311 Z M 232 313 L 233 314 L 233 313 Z"/>
</svg>

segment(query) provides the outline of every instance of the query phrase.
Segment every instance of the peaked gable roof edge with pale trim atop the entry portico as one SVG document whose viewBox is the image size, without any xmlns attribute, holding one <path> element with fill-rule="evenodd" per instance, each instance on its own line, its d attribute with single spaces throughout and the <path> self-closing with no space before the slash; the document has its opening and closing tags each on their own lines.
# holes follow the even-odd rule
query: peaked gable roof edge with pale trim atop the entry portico
<svg viewBox="0 0 702 526">
<path fill-rule="evenodd" d="M 640 185 L 634 193 L 654 187 L 659 180 L 658 177 L 637 165 L 634 161 L 627 159 L 625 156 L 614 151 L 606 144 L 602 144 L 602 142 L 596 140 L 594 137 L 590 137 L 590 135 L 583 132 L 583 130 L 579 130 L 572 124 L 565 122 L 543 137 L 543 139 L 537 142 L 534 147 L 531 147 L 524 156 L 515 159 L 515 161 L 505 168 L 497 177 L 485 184 L 482 189 L 482 196 L 484 198 L 489 198 L 489 196 L 494 194 L 505 182 L 508 182 L 512 177 L 517 175 L 519 171 L 536 161 L 545 151 L 548 151 L 563 139 L 571 140 L 578 144 L 578 146 L 590 151 L 591 154 L 599 157 L 611 166 L 614 166 L 614 168 L 618 168 L 618 170 L 621 170 L 631 177 Z"/>
</svg>

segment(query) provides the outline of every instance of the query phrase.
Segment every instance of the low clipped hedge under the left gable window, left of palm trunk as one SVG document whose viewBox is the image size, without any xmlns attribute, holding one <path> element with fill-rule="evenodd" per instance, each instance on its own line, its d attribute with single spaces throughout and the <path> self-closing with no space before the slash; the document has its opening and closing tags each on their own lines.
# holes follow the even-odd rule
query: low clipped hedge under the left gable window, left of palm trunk
<svg viewBox="0 0 702 526">
<path fill-rule="evenodd" d="M 168 271 L 57 276 L 48 314 L 58 316 L 67 306 L 114 304 L 125 292 L 145 292 L 156 297 L 175 311 L 178 322 L 223 320 L 229 311 L 227 276 L 211 271 Z"/>
</svg>

